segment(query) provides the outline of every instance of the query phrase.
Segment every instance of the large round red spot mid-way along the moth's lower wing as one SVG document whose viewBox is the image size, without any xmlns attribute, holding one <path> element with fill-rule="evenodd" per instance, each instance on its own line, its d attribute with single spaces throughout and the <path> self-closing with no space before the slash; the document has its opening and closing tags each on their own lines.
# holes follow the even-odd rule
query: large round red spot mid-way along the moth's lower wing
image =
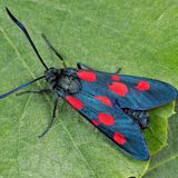
<svg viewBox="0 0 178 178">
<path fill-rule="evenodd" d="M 115 118 L 109 113 L 101 112 L 98 115 L 98 119 L 103 125 L 107 125 L 107 126 L 115 125 Z"/>
</svg>

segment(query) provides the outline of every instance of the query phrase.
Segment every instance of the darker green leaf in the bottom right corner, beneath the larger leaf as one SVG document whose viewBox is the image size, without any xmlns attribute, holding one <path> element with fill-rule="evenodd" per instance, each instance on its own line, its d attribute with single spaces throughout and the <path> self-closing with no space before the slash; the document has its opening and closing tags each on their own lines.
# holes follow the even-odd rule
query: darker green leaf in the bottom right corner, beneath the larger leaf
<svg viewBox="0 0 178 178">
<path fill-rule="evenodd" d="M 177 145 L 178 115 L 169 119 L 168 144 L 158 155 L 154 156 L 148 172 L 144 178 L 177 177 L 178 145 Z"/>
</svg>

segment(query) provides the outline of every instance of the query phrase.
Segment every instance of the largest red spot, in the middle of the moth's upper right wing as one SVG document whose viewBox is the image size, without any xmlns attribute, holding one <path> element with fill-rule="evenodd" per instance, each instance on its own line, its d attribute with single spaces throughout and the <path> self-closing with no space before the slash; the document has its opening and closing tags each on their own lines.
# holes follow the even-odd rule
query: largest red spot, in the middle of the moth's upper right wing
<svg viewBox="0 0 178 178">
<path fill-rule="evenodd" d="M 116 92 L 117 95 L 119 95 L 120 97 L 125 97 L 129 92 L 129 89 L 127 88 L 125 83 L 117 82 L 117 81 L 113 81 L 109 86 L 109 89 Z"/>
</svg>

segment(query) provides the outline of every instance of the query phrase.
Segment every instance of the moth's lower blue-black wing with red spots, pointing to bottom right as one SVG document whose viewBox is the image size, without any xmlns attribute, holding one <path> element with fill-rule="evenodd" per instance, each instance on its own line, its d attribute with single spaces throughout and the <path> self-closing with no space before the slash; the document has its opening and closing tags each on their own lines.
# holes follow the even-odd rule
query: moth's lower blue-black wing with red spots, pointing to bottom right
<svg viewBox="0 0 178 178">
<path fill-rule="evenodd" d="M 149 159 L 140 127 L 107 96 L 92 96 L 81 89 L 77 95 L 67 96 L 66 100 L 125 154 L 138 160 Z"/>
</svg>

